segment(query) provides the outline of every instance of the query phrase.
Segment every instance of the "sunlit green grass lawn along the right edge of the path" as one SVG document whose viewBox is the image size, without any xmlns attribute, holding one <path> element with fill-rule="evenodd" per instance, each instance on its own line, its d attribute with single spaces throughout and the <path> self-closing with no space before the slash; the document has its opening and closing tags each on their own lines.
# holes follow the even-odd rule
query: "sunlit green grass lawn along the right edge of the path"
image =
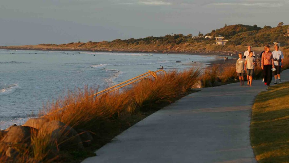
<svg viewBox="0 0 289 163">
<path fill-rule="evenodd" d="M 251 145 L 259 163 L 289 160 L 289 82 L 259 93 L 252 108 Z"/>
</svg>

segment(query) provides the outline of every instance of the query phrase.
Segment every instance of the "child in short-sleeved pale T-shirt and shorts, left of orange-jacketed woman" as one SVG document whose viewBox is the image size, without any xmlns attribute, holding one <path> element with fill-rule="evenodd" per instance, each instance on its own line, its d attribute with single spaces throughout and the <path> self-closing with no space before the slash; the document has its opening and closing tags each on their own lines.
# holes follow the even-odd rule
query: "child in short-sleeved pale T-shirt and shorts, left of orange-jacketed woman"
<svg viewBox="0 0 289 163">
<path fill-rule="evenodd" d="M 247 85 L 250 85 L 250 87 L 252 86 L 255 64 L 256 64 L 256 60 L 253 57 L 253 51 L 250 51 L 249 56 L 246 58 L 245 65 L 244 65 L 244 69 L 247 73 L 247 81 L 248 81 Z"/>
</svg>

